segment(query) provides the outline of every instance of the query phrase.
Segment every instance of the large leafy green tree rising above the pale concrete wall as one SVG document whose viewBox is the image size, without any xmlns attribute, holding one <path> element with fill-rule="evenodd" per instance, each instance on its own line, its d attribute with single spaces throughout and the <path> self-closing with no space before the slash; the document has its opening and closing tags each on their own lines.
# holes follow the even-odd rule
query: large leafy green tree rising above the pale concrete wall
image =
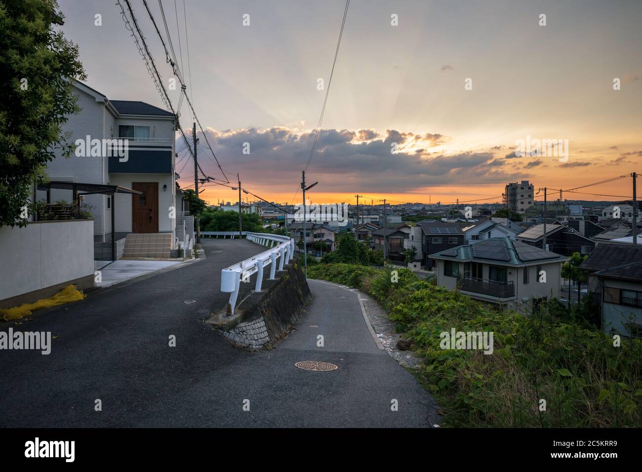
<svg viewBox="0 0 642 472">
<path fill-rule="evenodd" d="M 0 227 L 27 224 L 22 207 L 49 161 L 74 144 L 62 125 L 79 111 L 70 80 L 85 80 L 78 46 L 53 25 L 63 24 L 56 0 L 0 3 Z"/>
</svg>

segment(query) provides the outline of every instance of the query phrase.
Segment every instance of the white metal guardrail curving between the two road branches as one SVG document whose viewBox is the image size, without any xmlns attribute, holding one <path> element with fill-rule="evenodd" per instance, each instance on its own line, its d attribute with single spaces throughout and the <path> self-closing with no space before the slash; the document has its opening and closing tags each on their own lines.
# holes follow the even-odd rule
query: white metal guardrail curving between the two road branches
<svg viewBox="0 0 642 472">
<path fill-rule="evenodd" d="M 250 275 L 257 274 L 256 285 L 254 290 L 261 291 L 263 283 L 263 269 L 270 266 L 270 279 L 274 279 L 277 270 L 283 270 L 283 264 L 289 263 L 294 258 L 294 240 L 289 236 L 280 236 L 279 234 L 269 234 L 265 232 L 247 232 L 243 231 L 243 236 L 248 241 L 252 241 L 261 246 L 267 246 L 269 249 L 245 259 L 230 267 L 221 270 L 221 292 L 230 293 L 230 313 L 234 315 L 234 305 L 239 295 L 239 286 L 241 281 L 249 281 Z M 203 236 L 223 236 L 230 239 L 239 238 L 238 231 L 201 231 Z M 277 258 L 279 259 L 279 268 L 277 269 Z"/>
</svg>

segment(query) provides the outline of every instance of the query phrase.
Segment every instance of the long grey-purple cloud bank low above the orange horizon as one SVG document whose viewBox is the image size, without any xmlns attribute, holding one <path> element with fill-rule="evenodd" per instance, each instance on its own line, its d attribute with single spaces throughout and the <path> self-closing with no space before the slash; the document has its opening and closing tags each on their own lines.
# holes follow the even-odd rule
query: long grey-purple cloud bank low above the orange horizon
<svg viewBox="0 0 642 472">
<path fill-rule="evenodd" d="M 314 131 L 287 127 L 249 128 L 220 132 L 208 128 L 207 137 L 226 170 L 241 171 L 243 182 L 261 191 L 293 190 L 306 166 Z M 429 148 L 448 138 L 438 133 L 399 130 L 322 129 L 308 169 L 319 181 L 318 191 L 407 192 L 428 186 L 503 183 L 511 176 L 492 152 L 433 153 Z M 250 153 L 243 153 L 249 143 Z M 398 152 L 391 153 L 391 144 Z M 180 145 L 180 144 L 178 144 Z M 211 153 L 199 149 L 198 161 L 209 175 L 220 171 Z M 507 180 L 508 179 L 508 180 Z M 248 186 L 248 188 L 250 188 Z"/>
</svg>

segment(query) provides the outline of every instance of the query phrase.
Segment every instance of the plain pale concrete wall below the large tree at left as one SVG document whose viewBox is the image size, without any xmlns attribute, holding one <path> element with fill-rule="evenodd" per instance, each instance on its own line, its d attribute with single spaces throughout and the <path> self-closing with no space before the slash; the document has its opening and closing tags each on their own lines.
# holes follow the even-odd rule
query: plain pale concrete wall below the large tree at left
<svg viewBox="0 0 642 472">
<path fill-rule="evenodd" d="M 0 228 L 0 308 L 36 301 L 67 283 L 94 286 L 93 220 Z"/>
</svg>

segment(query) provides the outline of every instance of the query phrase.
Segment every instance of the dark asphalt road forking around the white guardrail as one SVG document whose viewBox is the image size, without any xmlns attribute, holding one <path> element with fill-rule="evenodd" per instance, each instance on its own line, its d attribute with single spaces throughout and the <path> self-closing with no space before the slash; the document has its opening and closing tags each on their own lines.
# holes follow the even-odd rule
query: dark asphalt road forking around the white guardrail
<svg viewBox="0 0 642 472">
<path fill-rule="evenodd" d="M 204 261 L 91 292 L 84 301 L 51 308 L 21 325 L 1 323 L 2 331 L 51 331 L 56 338 L 49 355 L 0 351 L 0 426 L 336 428 L 438 422 L 431 397 L 377 349 L 357 295 L 343 288 L 310 281 L 313 301 L 276 349 L 247 353 L 232 347 L 203 319 L 227 302 L 219 290 L 220 269 L 257 248 L 238 240 L 203 245 Z M 169 347 L 170 335 L 176 347 Z M 318 335 L 324 347 L 317 346 Z M 294 366 L 305 360 L 338 369 Z M 94 410 L 96 399 L 100 412 Z M 391 410 L 393 399 L 397 411 Z"/>
</svg>

